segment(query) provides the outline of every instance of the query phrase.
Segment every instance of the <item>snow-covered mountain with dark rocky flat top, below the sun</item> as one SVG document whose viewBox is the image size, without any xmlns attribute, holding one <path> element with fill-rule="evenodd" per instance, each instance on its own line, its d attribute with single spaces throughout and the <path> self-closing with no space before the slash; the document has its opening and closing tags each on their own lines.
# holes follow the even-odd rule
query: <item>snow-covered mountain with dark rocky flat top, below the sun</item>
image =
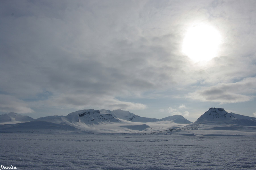
<svg viewBox="0 0 256 170">
<path fill-rule="evenodd" d="M 228 113 L 223 108 L 210 108 L 195 123 L 170 128 L 152 134 L 194 135 L 256 135 L 256 118 Z"/>
</svg>

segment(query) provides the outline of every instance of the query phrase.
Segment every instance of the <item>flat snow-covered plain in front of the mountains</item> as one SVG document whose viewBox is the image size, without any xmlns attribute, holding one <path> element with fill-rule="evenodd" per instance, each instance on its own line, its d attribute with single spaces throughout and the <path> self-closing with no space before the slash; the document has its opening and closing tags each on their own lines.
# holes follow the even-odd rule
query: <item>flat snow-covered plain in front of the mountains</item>
<svg viewBox="0 0 256 170">
<path fill-rule="evenodd" d="M 255 136 L 0 133 L 17 170 L 256 169 Z"/>
</svg>

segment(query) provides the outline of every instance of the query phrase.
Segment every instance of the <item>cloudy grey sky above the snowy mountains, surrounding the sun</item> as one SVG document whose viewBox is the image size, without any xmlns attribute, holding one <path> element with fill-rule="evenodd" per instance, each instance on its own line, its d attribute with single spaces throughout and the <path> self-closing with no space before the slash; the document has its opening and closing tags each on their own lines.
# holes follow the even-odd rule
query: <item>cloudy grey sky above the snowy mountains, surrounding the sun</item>
<svg viewBox="0 0 256 170">
<path fill-rule="evenodd" d="M 203 62 L 183 51 L 200 24 L 220 35 Z M 0 31 L 0 114 L 122 109 L 194 122 L 220 107 L 256 117 L 254 0 L 4 0 Z"/>
</svg>

